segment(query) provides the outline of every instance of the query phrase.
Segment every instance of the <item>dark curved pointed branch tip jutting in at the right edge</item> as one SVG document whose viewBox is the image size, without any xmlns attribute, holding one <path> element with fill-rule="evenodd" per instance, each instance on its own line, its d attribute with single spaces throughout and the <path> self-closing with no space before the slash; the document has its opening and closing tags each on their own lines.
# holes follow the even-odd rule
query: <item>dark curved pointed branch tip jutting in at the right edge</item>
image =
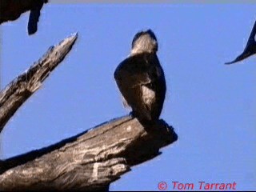
<svg viewBox="0 0 256 192">
<path fill-rule="evenodd" d="M 249 58 L 251 55 L 256 54 L 256 21 L 254 22 L 254 27 L 250 32 L 250 37 L 246 43 L 246 48 L 243 50 L 242 54 L 240 54 L 237 58 L 232 62 L 226 62 L 226 65 L 230 65 L 236 62 L 240 62 L 245 58 Z"/>
</svg>

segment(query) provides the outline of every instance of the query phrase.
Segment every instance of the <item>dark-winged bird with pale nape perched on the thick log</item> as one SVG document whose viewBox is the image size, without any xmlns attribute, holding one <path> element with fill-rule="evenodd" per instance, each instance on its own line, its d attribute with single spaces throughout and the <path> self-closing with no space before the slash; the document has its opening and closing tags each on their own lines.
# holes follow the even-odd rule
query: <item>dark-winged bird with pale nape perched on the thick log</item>
<svg viewBox="0 0 256 192">
<path fill-rule="evenodd" d="M 157 121 L 166 96 L 166 79 L 157 51 L 154 32 L 139 31 L 134 35 L 129 56 L 114 70 L 123 104 L 140 122 Z"/>
</svg>

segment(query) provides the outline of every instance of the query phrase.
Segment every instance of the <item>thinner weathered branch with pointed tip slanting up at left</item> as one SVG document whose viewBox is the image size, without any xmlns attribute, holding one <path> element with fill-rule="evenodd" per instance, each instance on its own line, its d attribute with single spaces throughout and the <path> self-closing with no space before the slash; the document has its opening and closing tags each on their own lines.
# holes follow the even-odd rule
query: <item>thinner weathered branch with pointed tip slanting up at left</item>
<svg viewBox="0 0 256 192">
<path fill-rule="evenodd" d="M 0 133 L 22 103 L 38 90 L 50 72 L 62 62 L 77 38 L 78 34 L 74 34 L 57 46 L 51 46 L 38 62 L 0 92 Z"/>
</svg>

